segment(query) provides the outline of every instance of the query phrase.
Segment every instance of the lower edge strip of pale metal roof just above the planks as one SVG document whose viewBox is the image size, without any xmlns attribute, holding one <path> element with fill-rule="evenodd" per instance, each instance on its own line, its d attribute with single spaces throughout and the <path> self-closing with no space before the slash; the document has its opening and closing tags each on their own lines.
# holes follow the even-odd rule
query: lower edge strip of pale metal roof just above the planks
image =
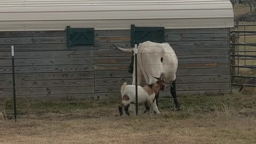
<svg viewBox="0 0 256 144">
<path fill-rule="evenodd" d="M 20 23 L 19 23 L 20 22 Z M 165 29 L 195 29 L 195 28 L 230 28 L 234 27 L 233 18 L 227 19 L 159 19 L 159 20 L 98 20 L 98 21 L 19 21 L 13 23 L 0 22 L 0 31 L 29 30 L 65 30 L 71 28 L 94 28 L 95 30 L 130 29 L 131 25 L 138 27 L 165 27 Z M 202 25 L 198 25 L 203 23 Z M 114 23 L 114 24 L 113 24 Z"/>
</svg>

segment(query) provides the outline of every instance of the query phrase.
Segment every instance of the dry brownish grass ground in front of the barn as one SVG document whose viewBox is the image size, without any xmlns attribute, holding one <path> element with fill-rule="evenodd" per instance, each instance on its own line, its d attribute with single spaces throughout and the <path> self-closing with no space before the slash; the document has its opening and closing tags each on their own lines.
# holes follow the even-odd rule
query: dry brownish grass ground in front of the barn
<svg viewBox="0 0 256 144">
<path fill-rule="evenodd" d="M 0 121 L 0 143 L 256 143 L 256 95 L 179 95 L 161 114 L 118 115 L 118 99 L 18 99 L 18 119 Z M 12 101 L 5 102 L 6 114 Z"/>
</svg>

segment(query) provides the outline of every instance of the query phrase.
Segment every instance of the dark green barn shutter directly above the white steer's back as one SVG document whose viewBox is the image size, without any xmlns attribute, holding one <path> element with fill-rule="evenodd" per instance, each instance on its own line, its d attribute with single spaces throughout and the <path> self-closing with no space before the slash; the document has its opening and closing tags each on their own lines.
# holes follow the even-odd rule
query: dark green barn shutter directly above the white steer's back
<svg viewBox="0 0 256 144">
<path fill-rule="evenodd" d="M 135 27 L 131 25 L 131 45 L 146 41 L 164 43 L 164 27 Z"/>
</svg>

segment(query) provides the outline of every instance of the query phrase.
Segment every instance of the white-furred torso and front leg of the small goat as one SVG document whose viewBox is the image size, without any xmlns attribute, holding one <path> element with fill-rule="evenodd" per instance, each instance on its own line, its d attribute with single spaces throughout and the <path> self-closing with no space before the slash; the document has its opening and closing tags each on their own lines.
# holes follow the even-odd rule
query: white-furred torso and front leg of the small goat
<svg viewBox="0 0 256 144">
<path fill-rule="evenodd" d="M 126 85 L 126 83 L 124 83 L 121 89 L 121 94 L 122 94 L 122 99 L 124 95 L 128 95 L 129 97 L 128 101 L 122 100 L 122 103 L 124 104 L 124 106 L 127 106 L 131 103 L 136 102 L 135 85 Z M 156 100 L 154 99 L 155 99 L 155 93 L 148 94 L 142 88 L 142 86 L 138 86 L 138 103 L 145 103 L 145 102 L 152 103 L 153 110 L 156 111 L 157 114 L 159 114 L 160 112 L 156 105 Z"/>
</svg>

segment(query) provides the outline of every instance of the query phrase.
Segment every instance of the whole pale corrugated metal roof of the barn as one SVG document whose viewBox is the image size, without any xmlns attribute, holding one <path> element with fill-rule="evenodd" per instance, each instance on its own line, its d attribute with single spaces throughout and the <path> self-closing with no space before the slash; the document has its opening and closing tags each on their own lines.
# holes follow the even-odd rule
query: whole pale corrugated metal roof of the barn
<svg viewBox="0 0 256 144">
<path fill-rule="evenodd" d="M 130 29 L 233 27 L 229 0 L 9 0 L 0 1 L 0 30 L 63 30 L 71 27 Z"/>
</svg>

